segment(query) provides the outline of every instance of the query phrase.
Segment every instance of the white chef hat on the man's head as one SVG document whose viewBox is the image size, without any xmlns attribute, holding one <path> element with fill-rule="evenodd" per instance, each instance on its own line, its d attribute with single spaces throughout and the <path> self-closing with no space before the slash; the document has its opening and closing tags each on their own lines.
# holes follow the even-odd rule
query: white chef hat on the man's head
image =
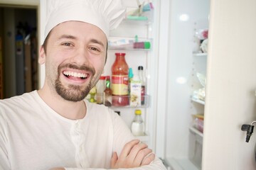
<svg viewBox="0 0 256 170">
<path fill-rule="evenodd" d="M 82 21 L 100 28 L 108 37 L 125 16 L 122 0 L 47 0 L 46 39 L 50 30 L 65 21 Z"/>
</svg>

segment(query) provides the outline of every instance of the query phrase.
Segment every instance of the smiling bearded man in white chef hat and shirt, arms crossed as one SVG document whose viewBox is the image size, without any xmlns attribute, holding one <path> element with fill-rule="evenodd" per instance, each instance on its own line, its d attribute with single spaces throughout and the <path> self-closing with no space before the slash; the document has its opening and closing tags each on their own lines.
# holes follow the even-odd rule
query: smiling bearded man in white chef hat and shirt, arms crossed
<svg viewBox="0 0 256 170">
<path fill-rule="evenodd" d="M 84 100 L 103 72 L 120 0 L 49 0 L 42 89 L 0 101 L 0 169 L 165 169 L 110 108 Z"/>
</svg>

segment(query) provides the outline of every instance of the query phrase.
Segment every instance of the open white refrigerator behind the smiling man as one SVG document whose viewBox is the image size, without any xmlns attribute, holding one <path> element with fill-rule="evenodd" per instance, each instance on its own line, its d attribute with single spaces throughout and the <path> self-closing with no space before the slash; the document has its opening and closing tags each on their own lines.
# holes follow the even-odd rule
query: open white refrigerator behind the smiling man
<svg viewBox="0 0 256 170">
<path fill-rule="evenodd" d="M 123 0 L 127 9 L 137 1 Z M 148 3 L 149 1 L 145 1 Z M 143 3 L 143 1 L 139 1 Z M 252 170 L 256 135 L 245 142 L 242 124 L 256 120 L 256 1 L 152 0 L 149 20 L 126 20 L 110 33 L 116 40 L 148 41 L 150 49 L 110 47 L 104 75 L 111 76 L 114 52 L 125 52 L 137 74 L 144 67 L 146 106 L 113 107 L 127 125 L 141 109 L 151 147 L 169 170 Z M 46 1 L 40 1 L 43 37 Z M 199 54 L 198 31 L 208 30 L 207 54 Z M 136 36 L 137 35 L 137 36 Z M 198 49 L 199 48 L 199 49 Z M 200 52 L 199 52 L 200 53 Z M 43 85 L 44 67 L 40 82 Z M 206 77 L 203 103 L 193 101 L 194 91 Z M 193 115 L 204 115 L 203 132 Z"/>
</svg>

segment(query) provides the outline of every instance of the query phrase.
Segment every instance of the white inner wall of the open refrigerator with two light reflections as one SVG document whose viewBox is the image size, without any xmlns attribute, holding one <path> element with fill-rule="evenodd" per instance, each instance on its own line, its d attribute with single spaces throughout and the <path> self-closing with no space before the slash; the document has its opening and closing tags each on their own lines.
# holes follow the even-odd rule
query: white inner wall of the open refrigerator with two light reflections
<svg viewBox="0 0 256 170">
<path fill-rule="evenodd" d="M 165 154 L 167 161 L 176 162 L 180 169 L 201 169 L 203 137 L 200 134 L 198 140 L 198 133 L 190 127 L 192 115 L 203 113 L 204 106 L 191 101 L 191 95 L 202 87 L 196 73 L 206 74 L 207 55 L 193 53 L 199 52 L 196 31 L 208 28 L 209 4 L 174 0 L 169 6 Z"/>
</svg>

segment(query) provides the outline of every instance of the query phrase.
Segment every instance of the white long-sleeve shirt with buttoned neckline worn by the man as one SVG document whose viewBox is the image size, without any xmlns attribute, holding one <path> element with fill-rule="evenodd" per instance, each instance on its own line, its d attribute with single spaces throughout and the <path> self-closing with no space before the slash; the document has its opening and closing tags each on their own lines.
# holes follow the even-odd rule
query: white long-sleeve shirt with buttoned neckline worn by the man
<svg viewBox="0 0 256 170">
<path fill-rule="evenodd" d="M 85 101 L 85 118 L 70 120 L 50 108 L 37 91 L 0 101 L 0 169 L 110 169 L 134 137 L 110 108 Z M 137 169 L 165 169 L 156 158 Z"/>
</svg>

